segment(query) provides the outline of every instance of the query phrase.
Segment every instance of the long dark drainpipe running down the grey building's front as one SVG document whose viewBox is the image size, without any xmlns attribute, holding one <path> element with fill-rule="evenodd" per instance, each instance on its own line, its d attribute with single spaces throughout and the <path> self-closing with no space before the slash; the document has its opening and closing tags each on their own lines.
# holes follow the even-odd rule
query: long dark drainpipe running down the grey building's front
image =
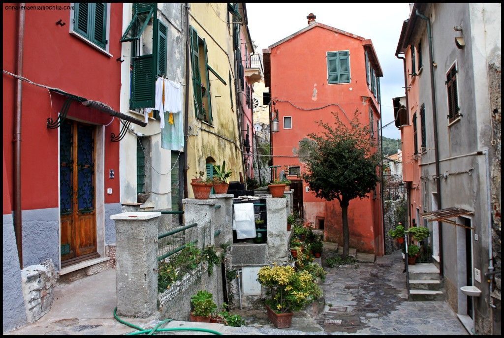
<svg viewBox="0 0 504 338">
<path fill-rule="evenodd" d="M 436 167 L 436 199 L 437 199 L 437 209 L 442 209 L 441 206 L 441 181 L 439 180 L 439 147 L 437 141 L 437 110 L 436 110 L 436 96 L 434 87 L 434 61 L 433 61 L 433 51 L 432 51 L 432 31 L 430 29 L 430 20 L 425 15 L 420 14 L 418 9 L 415 14 L 427 22 L 427 35 L 429 39 L 429 70 L 430 70 L 430 92 L 432 97 L 432 122 L 434 127 L 434 156 L 435 156 L 435 167 Z M 443 227 L 442 222 L 438 222 L 439 229 L 439 275 L 443 276 L 444 266 L 443 266 Z"/>
</svg>

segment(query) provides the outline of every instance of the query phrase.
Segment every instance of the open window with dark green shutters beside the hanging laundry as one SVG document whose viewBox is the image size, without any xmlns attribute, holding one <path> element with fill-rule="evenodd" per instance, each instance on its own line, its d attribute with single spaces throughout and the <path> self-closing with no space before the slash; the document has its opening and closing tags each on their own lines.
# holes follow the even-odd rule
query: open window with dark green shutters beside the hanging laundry
<svg viewBox="0 0 504 338">
<path fill-rule="evenodd" d="M 166 76 L 167 34 L 167 25 L 157 17 L 156 3 L 133 4 L 132 20 L 120 39 L 132 44 L 130 109 L 155 106 L 156 79 Z M 157 111 L 152 114 L 159 116 Z"/>
</svg>

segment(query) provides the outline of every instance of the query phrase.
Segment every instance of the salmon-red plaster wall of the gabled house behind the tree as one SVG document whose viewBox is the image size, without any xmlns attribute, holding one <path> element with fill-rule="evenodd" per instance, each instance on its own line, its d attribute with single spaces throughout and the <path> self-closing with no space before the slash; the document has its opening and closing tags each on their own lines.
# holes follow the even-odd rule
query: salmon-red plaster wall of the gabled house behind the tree
<svg viewBox="0 0 504 338">
<path fill-rule="evenodd" d="M 351 83 L 329 85 L 327 81 L 328 51 L 350 50 Z M 317 94 L 314 95 L 314 89 Z M 299 141 L 310 132 L 319 132 L 321 127 L 316 121 L 322 119 L 333 122 L 331 112 L 339 114 L 343 121 L 352 118 L 356 109 L 362 113 L 359 120 L 369 125 L 369 103 L 362 102 L 361 96 L 373 97 L 367 87 L 365 59 L 362 40 L 336 33 L 322 27 L 314 27 L 290 40 L 271 48 L 271 93 L 272 101 L 291 101 L 301 108 L 319 110 L 301 110 L 288 102 L 276 101 L 279 111 L 280 131 L 273 133 L 273 155 L 297 156 Z M 369 102 L 369 100 L 368 100 Z M 372 98 L 374 106 L 377 103 Z M 292 116 L 292 129 L 284 129 L 283 117 Z M 379 111 L 375 110 L 374 130 L 377 130 Z M 375 134 L 376 137 L 376 134 Z M 274 165 L 304 164 L 297 157 L 274 157 Z M 326 240 L 343 243 L 341 209 L 337 200 L 326 202 L 306 192 L 303 182 L 303 202 L 305 221 L 315 223 L 316 216 L 325 217 Z M 380 187 L 377 186 L 377 191 Z M 325 208 L 320 206 L 325 204 Z M 311 210 L 317 210 L 311 212 Z M 325 211 L 324 211 L 325 210 Z M 360 252 L 383 255 L 383 232 L 381 204 L 379 199 L 354 199 L 349 206 L 350 246 Z M 382 244 L 380 244 L 380 238 Z"/>
</svg>

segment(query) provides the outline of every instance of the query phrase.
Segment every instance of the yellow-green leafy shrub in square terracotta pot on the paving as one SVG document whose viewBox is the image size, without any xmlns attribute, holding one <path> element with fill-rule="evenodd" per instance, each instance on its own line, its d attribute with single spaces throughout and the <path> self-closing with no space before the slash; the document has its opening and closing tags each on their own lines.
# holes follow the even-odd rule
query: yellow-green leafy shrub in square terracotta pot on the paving
<svg viewBox="0 0 504 338">
<path fill-rule="evenodd" d="M 296 272 L 290 265 L 263 266 L 257 280 L 268 289 L 268 318 L 278 328 L 290 327 L 293 311 L 299 311 L 322 296 L 309 272 Z"/>
</svg>

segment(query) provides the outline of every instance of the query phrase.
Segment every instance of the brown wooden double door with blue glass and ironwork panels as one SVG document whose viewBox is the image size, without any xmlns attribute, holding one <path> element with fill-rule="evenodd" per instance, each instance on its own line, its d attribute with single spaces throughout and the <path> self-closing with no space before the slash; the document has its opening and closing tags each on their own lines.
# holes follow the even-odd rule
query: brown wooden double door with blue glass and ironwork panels
<svg viewBox="0 0 504 338">
<path fill-rule="evenodd" d="M 98 257 L 95 210 L 95 127 L 60 126 L 61 267 Z"/>
</svg>

